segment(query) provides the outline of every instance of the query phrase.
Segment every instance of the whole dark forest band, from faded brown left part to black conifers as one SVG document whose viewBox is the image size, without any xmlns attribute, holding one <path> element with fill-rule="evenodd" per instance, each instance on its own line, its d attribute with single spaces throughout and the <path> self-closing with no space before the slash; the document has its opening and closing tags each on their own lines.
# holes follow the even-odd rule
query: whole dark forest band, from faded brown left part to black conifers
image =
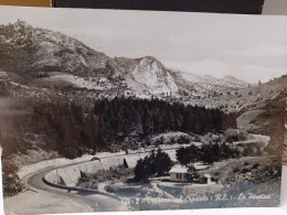
<svg viewBox="0 0 287 215">
<path fill-rule="evenodd" d="M 158 99 L 95 101 L 53 96 L 28 99 L 26 108 L 30 110 L 26 115 L 6 117 L 6 128 L 2 129 L 6 135 L 0 139 L 9 154 L 23 153 L 25 146 L 32 149 L 31 142 L 40 142 L 44 150 L 76 158 L 111 148 L 127 149 L 138 140 L 164 131 L 204 135 L 235 127 L 234 116 L 217 109 Z"/>
</svg>

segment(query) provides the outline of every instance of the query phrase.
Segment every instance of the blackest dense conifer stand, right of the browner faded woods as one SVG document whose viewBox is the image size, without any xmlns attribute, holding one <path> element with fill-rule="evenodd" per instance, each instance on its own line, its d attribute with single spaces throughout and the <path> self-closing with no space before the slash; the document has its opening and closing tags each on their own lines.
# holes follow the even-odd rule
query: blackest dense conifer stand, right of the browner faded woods
<svg viewBox="0 0 287 215">
<path fill-rule="evenodd" d="M 108 141 L 131 133 L 141 137 L 164 131 L 203 135 L 235 127 L 234 119 L 226 125 L 225 119 L 231 116 L 224 116 L 219 109 L 158 99 L 105 99 L 95 106 L 95 114 L 100 116 L 102 135 Z"/>
</svg>

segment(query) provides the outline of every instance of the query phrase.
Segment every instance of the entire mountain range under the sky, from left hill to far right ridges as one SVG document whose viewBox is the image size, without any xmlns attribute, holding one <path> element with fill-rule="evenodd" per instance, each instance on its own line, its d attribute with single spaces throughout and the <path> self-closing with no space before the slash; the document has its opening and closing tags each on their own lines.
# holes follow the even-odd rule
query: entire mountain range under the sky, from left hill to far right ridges
<svg viewBox="0 0 287 215">
<path fill-rule="evenodd" d="M 183 73 L 167 68 L 153 56 L 113 58 L 63 33 L 33 28 L 23 21 L 0 25 L 0 65 L 6 72 L 22 78 L 38 73 L 60 72 L 77 77 L 93 77 L 88 82 L 95 83 L 99 78 L 107 78 L 106 85 L 111 85 L 111 88 L 123 82 L 126 87 L 120 90 L 124 93 L 130 89 L 134 95 L 204 97 L 247 86 L 247 83 L 231 76 L 220 79 L 194 76 L 190 80 L 182 76 Z"/>
</svg>

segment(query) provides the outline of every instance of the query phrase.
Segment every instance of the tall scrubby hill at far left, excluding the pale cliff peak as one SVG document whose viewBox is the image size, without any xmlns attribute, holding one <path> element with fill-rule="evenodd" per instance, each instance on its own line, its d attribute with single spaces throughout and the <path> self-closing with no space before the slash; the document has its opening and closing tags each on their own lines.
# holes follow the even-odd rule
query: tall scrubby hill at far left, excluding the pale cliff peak
<svg viewBox="0 0 287 215">
<path fill-rule="evenodd" d="M 60 32 L 33 28 L 23 21 L 0 25 L 0 65 L 8 72 L 66 72 L 83 76 L 99 74 L 109 66 L 105 54 Z"/>
</svg>

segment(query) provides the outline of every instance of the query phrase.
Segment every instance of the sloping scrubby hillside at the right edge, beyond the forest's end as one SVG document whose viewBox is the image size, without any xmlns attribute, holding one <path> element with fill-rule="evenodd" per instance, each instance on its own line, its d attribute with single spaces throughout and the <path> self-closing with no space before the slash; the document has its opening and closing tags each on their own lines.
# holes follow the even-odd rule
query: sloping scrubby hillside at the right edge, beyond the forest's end
<svg viewBox="0 0 287 215">
<path fill-rule="evenodd" d="M 284 127 L 287 76 L 240 90 L 244 105 L 238 109 L 237 126 L 249 132 L 278 135 Z"/>
</svg>

